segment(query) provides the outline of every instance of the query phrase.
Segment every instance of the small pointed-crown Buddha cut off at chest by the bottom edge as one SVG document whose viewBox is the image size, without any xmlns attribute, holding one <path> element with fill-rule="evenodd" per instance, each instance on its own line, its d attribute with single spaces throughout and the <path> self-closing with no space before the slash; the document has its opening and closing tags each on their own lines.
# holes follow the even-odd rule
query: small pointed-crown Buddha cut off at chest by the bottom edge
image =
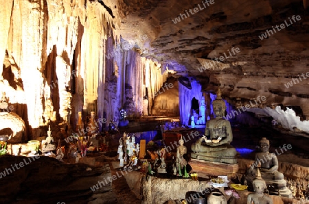
<svg viewBox="0 0 309 204">
<path fill-rule="evenodd" d="M 253 181 L 253 189 L 255 193 L 248 195 L 247 204 L 273 204 L 273 200 L 264 195 L 264 190 L 266 188 L 266 183 L 261 177 L 260 170 L 258 170 L 258 175 Z"/>
</svg>

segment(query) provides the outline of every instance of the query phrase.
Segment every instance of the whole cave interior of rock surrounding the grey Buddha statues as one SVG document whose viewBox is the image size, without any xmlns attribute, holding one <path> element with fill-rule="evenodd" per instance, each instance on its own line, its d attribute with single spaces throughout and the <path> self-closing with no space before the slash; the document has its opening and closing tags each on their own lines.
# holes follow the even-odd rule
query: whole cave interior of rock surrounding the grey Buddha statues
<svg viewBox="0 0 309 204">
<path fill-rule="evenodd" d="M 0 203 L 180 203 L 203 192 L 216 167 L 199 169 L 190 153 L 218 96 L 237 151 L 230 182 L 244 184 L 267 138 L 293 193 L 268 196 L 309 202 L 308 0 L 6 0 L 0 18 Z M 140 150 L 129 173 L 126 135 Z M 180 139 L 200 184 L 172 174 Z M 151 153 L 167 146 L 167 173 L 150 176 Z M 229 203 L 250 193 L 219 190 Z"/>
</svg>

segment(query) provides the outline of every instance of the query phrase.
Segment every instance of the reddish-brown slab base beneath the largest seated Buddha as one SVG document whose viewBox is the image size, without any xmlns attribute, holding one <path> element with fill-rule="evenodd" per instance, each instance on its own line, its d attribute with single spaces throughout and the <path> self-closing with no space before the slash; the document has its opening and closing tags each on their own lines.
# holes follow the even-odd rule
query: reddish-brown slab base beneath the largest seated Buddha
<svg viewBox="0 0 309 204">
<path fill-rule="evenodd" d="M 223 164 L 218 162 L 207 162 L 204 160 L 191 159 L 189 162 L 192 172 L 198 173 L 198 177 L 208 178 L 211 176 L 234 177 L 238 171 L 238 164 Z"/>
</svg>

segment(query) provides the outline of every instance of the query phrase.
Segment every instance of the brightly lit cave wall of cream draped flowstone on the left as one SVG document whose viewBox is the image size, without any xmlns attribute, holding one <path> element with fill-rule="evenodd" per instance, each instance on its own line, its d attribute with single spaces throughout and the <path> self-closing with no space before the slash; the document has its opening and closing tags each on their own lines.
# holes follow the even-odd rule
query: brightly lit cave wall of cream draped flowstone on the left
<svg viewBox="0 0 309 204">
<path fill-rule="evenodd" d="M 153 103 L 168 73 L 115 34 L 121 22 L 117 6 L 89 0 L 5 3 L 0 91 L 25 120 L 25 140 L 38 137 L 38 127 L 49 123 L 74 128 L 80 111 L 95 111 L 108 125 L 119 120 L 128 100 L 131 116 L 141 116 L 146 88 Z M 129 99 L 126 86 L 132 88 Z"/>
</svg>

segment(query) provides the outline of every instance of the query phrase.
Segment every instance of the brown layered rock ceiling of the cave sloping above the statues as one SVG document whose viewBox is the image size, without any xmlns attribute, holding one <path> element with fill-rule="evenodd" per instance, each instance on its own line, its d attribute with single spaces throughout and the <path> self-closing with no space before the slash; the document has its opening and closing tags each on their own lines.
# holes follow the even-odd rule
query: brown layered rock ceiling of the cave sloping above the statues
<svg viewBox="0 0 309 204">
<path fill-rule="evenodd" d="M 117 20 L 115 32 L 133 40 L 141 55 L 176 71 L 175 77 L 196 77 L 205 91 L 220 86 L 234 104 L 260 95 L 267 99 L 264 105 L 301 107 L 306 116 L 308 5 L 306 0 L 106 1 Z"/>
</svg>

